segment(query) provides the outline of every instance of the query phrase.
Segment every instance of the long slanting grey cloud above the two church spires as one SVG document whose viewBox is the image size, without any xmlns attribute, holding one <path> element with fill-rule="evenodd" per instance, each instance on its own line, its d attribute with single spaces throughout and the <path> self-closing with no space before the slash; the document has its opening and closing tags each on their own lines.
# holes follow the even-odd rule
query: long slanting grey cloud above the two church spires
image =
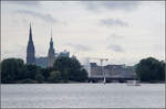
<svg viewBox="0 0 166 109">
<path fill-rule="evenodd" d="M 51 14 L 43 14 L 43 13 L 29 11 L 29 10 L 18 10 L 18 11 L 15 11 L 15 13 L 35 17 L 35 18 L 39 18 L 39 19 L 45 21 L 45 22 L 51 22 L 51 23 L 56 22 L 56 20 Z"/>
</svg>

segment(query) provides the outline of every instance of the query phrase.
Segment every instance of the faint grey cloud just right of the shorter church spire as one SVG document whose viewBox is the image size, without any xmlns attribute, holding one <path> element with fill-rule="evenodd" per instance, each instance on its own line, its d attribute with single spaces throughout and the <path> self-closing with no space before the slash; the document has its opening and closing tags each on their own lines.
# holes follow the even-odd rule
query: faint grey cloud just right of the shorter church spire
<svg viewBox="0 0 166 109">
<path fill-rule="evenodd" d="M 72 44 L 72 43 L 68 43 L 66 45 L 74 47 L 75 50 L 79 51 L 91 51 L 91 47 L 81 45 L 81 44 Z"/>
</svg>

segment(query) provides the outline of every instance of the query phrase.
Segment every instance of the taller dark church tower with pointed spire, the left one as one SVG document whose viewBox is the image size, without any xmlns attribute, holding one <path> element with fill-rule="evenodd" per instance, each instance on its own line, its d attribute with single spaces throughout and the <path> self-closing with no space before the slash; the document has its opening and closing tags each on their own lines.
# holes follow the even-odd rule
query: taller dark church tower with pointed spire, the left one
<svg viewBox="0 0 166 109">
<path fill-rule="evenodd" d="M 30 23 L 30 33 L 29 33 L 29 42 L 27 46 L 27 64 L 35 64 L 35 50 L 33 45 L 32 40 L 32 30 L 31 30 L 31 23 Z"/>
</svg>

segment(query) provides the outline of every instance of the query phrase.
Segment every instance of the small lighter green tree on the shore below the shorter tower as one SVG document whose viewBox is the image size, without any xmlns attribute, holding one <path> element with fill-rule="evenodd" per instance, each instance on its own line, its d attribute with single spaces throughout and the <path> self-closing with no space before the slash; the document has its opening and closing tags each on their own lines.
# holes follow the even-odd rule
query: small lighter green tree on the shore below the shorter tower
<svg viewBox="0 0 166 109">
<path fill-rule="evenodd" d="M 59 70 L 56 72 L 53 70 L 50 73 L 50 77 L 49 77 L 50 83 L 59 83 L 60 80 L 62 80 L 62 76 Z"/>
</svg>

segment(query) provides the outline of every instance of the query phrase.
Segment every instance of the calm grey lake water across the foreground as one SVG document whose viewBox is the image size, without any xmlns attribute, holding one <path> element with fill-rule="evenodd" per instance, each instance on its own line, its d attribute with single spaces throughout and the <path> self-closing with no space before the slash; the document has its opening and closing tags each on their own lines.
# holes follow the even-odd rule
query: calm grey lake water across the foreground
<svg viewBox="0 0 166 109">
<path fill-rule="evenodd" d="M 165 108 L 165 85 L 1 85 L 2 108 Z"/>
</svg>

